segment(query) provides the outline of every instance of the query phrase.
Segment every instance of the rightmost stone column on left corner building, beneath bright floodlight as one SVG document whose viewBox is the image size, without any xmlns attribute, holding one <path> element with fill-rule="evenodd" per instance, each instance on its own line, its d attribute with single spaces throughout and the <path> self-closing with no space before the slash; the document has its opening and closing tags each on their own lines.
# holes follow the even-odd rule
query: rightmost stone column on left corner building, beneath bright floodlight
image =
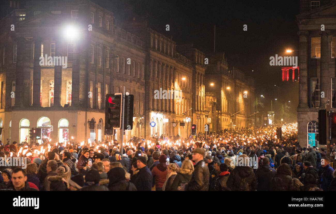
<svg viewBox="0 0 336 214">
<path fill-rule="evenodd" d="M 72 101 L 71 101 L 71 106 L 79 106 L 79 44 L 78 44 L 77 41 L 73 43 L 72 58 L 73 59 L 72 59 L 72 91 L 71 91 Z M 94 86 L 93 86 L 93 88 L 94 88 Z"/>
</svg>

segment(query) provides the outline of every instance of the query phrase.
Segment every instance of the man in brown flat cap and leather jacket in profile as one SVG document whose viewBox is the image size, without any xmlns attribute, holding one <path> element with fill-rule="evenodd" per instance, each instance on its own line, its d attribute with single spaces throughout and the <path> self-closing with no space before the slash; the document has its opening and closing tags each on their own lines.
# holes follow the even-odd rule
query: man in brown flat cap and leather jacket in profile
<svg viewBox="0 0 336 214">
<path fill-rule="evenodd" d="M 209 168 L 203 160 L 205 151 L 201 148 L 196 148 L 192 151 L 193 161 L 196 162 L 195 170 L 186 187 L 188 191 L 208 191 L 209 189 Z"/>
</svg>

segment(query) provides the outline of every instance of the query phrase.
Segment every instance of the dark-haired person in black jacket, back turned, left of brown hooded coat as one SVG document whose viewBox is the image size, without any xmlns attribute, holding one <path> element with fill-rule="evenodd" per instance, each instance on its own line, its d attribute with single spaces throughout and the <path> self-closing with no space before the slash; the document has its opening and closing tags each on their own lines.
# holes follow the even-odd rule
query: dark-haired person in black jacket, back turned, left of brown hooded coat
<svg viewBox="0 0 336 214">
<path fill-rule="evenodd" d="M 258 191 L 269 191 L 270 182 L 273 176 L 276 174 L 276 170 L 269 165 L 269 159 L 264 157 L 262 159 L 262 166 L 255 172 L 255 178 L 257 179 Z"/>
</svg>

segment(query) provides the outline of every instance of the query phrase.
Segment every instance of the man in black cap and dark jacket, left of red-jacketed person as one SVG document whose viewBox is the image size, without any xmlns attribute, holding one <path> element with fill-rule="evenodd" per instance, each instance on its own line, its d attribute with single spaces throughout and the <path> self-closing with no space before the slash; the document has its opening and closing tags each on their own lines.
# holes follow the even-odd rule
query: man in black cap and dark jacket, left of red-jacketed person
<svg viewBox="0 0 336 214">
<path fill-rule="evenodd" d="M 137 177 L 134 181 L 134 185 L 138 191 L 151 191 L 152 183 L 153 183 L 153 175 L 149 170 L 148 166 L 146 166 L 147 161 L 143 156 L 139 156 L 136 159 L 136 165 L 139 169 L 137 173 Z"/>
</svg>

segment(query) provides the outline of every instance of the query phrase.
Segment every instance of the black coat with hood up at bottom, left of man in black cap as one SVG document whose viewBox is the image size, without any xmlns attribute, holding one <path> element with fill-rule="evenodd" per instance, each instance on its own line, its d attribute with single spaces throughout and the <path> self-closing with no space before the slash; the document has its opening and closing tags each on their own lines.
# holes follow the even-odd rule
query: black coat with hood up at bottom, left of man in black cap
<svg viewBox="0 0 336 214">
<path fill-rule="evenodd" d="M 110 191 L 136 191 L 135 185 L 126 181 L 124 169 L 113 168 L 109 171 L 108 176 Z"/>
</svg>

